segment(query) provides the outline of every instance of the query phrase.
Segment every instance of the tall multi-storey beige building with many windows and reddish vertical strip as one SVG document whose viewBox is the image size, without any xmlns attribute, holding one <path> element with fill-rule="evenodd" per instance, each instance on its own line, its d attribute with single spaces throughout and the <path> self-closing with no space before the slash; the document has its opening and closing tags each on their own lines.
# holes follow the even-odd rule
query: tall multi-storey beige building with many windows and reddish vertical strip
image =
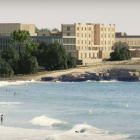
<svg viewBox="0 0 140 140">
<path fill-rule="evenodd" d="M 109 58 L 115 42 L 115 25 L 62 24 L 63 46 L 78 60 Z"/>
</svg>

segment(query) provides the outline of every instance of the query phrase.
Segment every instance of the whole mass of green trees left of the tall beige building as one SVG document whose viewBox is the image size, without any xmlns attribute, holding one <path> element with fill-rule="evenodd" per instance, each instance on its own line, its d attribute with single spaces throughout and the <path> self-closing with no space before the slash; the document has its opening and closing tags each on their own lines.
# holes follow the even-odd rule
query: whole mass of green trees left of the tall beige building
<svg viewBox="0 0 140 140">
<path fill-rule="evenodd" d="M 19 53 L 9 49 L 0 54 L 0 74 L 37 73 L 39 66 L 43 66 L 48 71 L 76 67 L 76 60 L 67 55 L 62 45 L 58 42 L 53 44 L 42 42 L 39 46 L 32 44 L 28 31 L 14 31 L 9 43 L 17 46 Z M 21 47 L 23 47 L 22 52 Z"/>
</svg>

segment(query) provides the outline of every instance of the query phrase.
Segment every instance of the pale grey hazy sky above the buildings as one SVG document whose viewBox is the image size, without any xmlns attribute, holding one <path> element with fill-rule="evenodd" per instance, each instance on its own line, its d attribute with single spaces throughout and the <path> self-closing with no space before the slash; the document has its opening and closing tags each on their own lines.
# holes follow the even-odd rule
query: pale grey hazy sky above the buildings
<svg viewBox="0 0 140 140">
<path fill-rule="evenodd" d="M 140 35 L 140 0 L 0 0 L 0 23 L 115 24 L 116 32 Z"/>
</svg>

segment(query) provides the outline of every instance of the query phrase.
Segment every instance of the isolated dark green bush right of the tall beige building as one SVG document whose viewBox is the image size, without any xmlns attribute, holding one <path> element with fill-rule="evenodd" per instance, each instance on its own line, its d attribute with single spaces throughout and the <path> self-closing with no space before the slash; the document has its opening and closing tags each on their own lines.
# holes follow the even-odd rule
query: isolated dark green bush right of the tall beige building
<svg viewBox="0 0 140 140">
<path fill-rule="evenodd" d="M 130 58 L 130 51 L 125 47 L 121 49 L 119 49 L 119 47 L 116 47 L 114 52 L 110 54 L 111 61 L 129 60 Z"/>
</svg>

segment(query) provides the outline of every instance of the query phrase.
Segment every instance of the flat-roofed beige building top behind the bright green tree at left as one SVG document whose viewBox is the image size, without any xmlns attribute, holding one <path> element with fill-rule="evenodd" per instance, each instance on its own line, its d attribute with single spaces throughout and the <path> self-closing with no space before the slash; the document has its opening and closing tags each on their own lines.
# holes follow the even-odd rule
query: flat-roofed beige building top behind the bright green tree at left
<svg viewBox="0 0 140 140">
<path fill-rule="evenodd" d="M 37 36 L 35 33 L 35 24 L 25 23 L 0 23 L 0 35 L 10 36 L 14 30 L 27 30 L 30 36 Z"/>
</svg>

